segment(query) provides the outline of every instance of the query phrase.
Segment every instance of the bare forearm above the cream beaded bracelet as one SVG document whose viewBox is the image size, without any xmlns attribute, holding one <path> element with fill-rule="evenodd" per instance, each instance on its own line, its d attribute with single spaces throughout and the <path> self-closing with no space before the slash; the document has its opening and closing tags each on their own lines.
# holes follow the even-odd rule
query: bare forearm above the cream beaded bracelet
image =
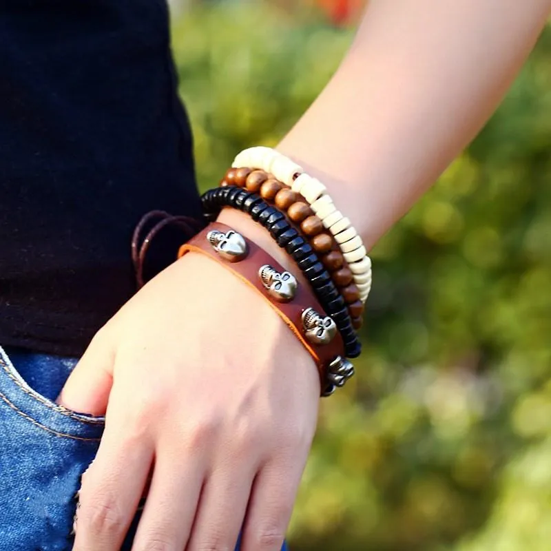
<svg viewBox="0 0 551 551">
<path fill-rule="evenodd" d="M 472 140 L 550 0 L 371 0 L 339 70 L 278 149 L 329 188 L 368 248 Z"/>
</svg>

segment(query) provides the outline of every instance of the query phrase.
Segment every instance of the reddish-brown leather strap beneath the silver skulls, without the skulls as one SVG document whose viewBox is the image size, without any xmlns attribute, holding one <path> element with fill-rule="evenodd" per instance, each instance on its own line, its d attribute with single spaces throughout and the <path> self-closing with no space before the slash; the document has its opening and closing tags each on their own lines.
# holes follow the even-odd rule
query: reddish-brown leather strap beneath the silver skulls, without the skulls
<svg viewBox="0 0 551 551">
<path fill-rule="evenodd" d="M 264 251 L 264 249 L 261 249 L 255 242 L 249 239 L 247 239 L 249 253 L 243 260 L 238 262 L 229 262 L 225 260 L 214 250 L 214 247 L 212 247 L 209 240 L 207 240 L 207 233 L 211 230 L 227 233 L 227 231 L 231 231 L 231 228 L 220 222 L 212 222 L 194 238 L 191 238 L 185 245 L 180 247 L 178 258 L 190 252 L 202 253 L 222 264 L 222 266 L 237 275 L 237 277 L 249 285 L 249 287 L 253 287 L 253 289 L 260 293 L 262 298 L 264 298 L 278 315 L 280 315 L 280 318 L 289 326 L 289 329 L 293 331 L 295 336 L 298 337 L 298 340 L 302 342 L 304 348 L 309 351 L 310 355 L 313 357 L 315 364 L 318 366 L 318 371 L 320 372 L 323 392 L 326 387 L 326 368 L 330 362 L 335 360 L 335 357 L 344 357 L 344 342 L 338 331 L 329 344 L 312 344 L 306 339 L 302 326 L 302 313 L 308 308 L 313 308 L 321 315 L 325 315 L 318 300 L 310 289 L 299 283 L 295 292 L 295 297 L 291 302 L 278 302 L 267 292 L 267 289 L 258 276 L 258 271 L 264 264 L 269 264 L 280 273 L 287 270 Z"/>
</svg>

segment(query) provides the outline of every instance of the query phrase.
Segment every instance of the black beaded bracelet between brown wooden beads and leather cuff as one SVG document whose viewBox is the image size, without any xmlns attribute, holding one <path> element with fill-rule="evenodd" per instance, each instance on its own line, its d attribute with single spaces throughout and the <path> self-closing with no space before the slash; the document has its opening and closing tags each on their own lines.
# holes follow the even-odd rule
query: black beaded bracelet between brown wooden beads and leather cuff
<svg viewBox="0 0 551 551">
<path fill-rule="evenodd" d="M 211 220 L 218 216 L 222 207 L 232 207 L 247 212 L 253 220 L 264 226 L 275 242 L 295 260 L 324 311 L 335 321 L 344 342 L 346 357 L 360 355 L 362 345 L 354 331 L 344 298 L 312 247 L 291 227 L 281 211 L 271 207 L 257 194 L 235 186 L 211 189 L 202 195 L 201 202 L 205 215 Z"/>
</svg>

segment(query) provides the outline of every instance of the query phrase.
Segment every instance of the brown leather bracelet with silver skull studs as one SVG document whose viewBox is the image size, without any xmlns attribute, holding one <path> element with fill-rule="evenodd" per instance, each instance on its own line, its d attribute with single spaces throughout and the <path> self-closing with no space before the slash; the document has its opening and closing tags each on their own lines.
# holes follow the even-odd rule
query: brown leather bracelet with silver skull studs
<svg viewBox="0 0 551 551">
<path fill-rule="evenodd" d="M 223 251 L 220 253 L 220 249 L 216 248 L 216 243 L 211 237 L 213 236 L 213 233 L 211 233 L 213 231 L 220 232 L 220 236 L 225 236 L 228 232 L 237 233 L 225 224 L 212 222 L 207 228 L 180 247 L 178 258 L 181 258 L 189 252 L 202 253 L 229 269 L 237 275 L 240 280 L 249 285 L 249 287 L 253 287 L 253 289 L 262 295 L 264 300 L 267 300 L 278 315 L 280 315 L 280 318 L 284 320 L 287 326 L 289 326 L 289 329 L 293 331 L 304 348 L 306 348 L 313 357 L 320 373 L 322 395 L 329 395 L 329 393 L 334 390 L 333 384 L 342 386 L 338 384 L 338 382 L 342 380 L 342 384 L 344 384 L 346 379 L 352 375 L 353 367 L 348 360 L 344 360 L 344 342 L 338 331 L 334 332 L 333 337 L 327 344 L 316 342 L 319 339 L 317 335 L 312 334 L 312 331 L 314 331 L 314 333 L 316 331 L 324 331 L 325 325 L 329 324 L 329 322 L 333 322 L 333 320 L 331 320 L 329 316 L 326 316 L 322 306 L 320 306 L 320 303 L 313 293 L 311 293 L 310 289 L 302 284 L 297 284 L 294 296 L 289 302 L 280 302 L 280 300 L 276 300 L 276 298 L 269 293 L 267 285 L 260 277 L 259 271 L 261 267 L 264 266 L 271 267 L 275 271 L 271 273 L 278 273 L 278 275 L 288 273 L 287 270 L 264 251 L 264 249 L 258 247 L 258 245 L 251 240 L 246 240 L 248 249 L 246 256 L 242 256 L 242 258 L 234 257 L 236 260 L 233 261 L 228 260 L 225 258 Z M 239 234 L 238 236 L 244 239 Z M 220 239 L 222 240 L 222 237 L 220 237 Z M 304 314 L 305 312 L 307 312 L 307 314 Z M 320 317 L 316 318 L 314 313 L 318 313 Z M 306 320 L 304 319 L 305 316 Z M 315 321 L 318 322 L 317 325 Z M 331 375 L 329 380 L 328 373 Z"/>
</svg>

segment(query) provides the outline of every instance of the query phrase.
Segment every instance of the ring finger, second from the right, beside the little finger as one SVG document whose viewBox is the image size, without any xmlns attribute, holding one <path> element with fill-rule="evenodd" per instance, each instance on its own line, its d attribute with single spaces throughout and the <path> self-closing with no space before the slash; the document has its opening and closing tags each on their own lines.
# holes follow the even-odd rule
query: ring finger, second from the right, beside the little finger
<svg viewBox="0 0 551 551">
<path fill-rule="evenodd" d="M 235 548 L 254 471 L 238 464 L 214 471 L 203 487 L 187 551 Z"/>
</svg>

